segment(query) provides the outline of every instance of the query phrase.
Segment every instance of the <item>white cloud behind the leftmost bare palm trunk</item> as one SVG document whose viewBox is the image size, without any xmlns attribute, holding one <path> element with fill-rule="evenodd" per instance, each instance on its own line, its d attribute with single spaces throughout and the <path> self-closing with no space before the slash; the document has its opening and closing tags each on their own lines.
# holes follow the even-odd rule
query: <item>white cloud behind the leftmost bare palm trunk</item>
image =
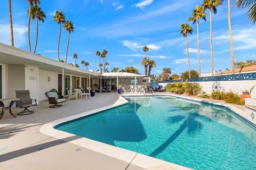
<svg viewBox="0 0 256 170">
<path fill-rule="evenodd" d="M 27 43 L 26 32 L 27 27 L 23 25 L 13 25 L 13 37 L 14 37 L 14 46 L 22 47 Z M 11 45 L 11 31 L 9 24 L 0 24 L 0 42 L 4 44 Z"/>
</svg>

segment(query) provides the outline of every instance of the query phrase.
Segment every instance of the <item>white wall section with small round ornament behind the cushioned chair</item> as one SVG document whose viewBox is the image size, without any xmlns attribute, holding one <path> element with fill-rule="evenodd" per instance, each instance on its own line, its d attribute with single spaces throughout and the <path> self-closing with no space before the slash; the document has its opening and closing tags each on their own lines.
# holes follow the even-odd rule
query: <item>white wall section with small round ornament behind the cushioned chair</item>
<svg viewBox="0 0 256 170">
<path fill-rule="evenodd" d="M 51 81 L 48 81 L 48 77 Z M 51 89 L 57 89 L 57 73 L 39 70 L 39 101 L 46 100 L 45 92 Z"/>
</svg>

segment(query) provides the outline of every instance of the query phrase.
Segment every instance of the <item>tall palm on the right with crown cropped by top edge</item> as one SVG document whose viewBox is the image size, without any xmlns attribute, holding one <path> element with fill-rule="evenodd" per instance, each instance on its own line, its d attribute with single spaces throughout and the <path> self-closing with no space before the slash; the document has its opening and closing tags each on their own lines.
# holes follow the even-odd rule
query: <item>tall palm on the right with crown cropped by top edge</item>
<svg viewBox="0 0 256 170">
<path fill-rule="evenodd" d="M 222 0 L 204 0 L 202 6 L 209 9 L 210 14 L 210 48 L 211 48 L 211 64 L 212 64 L 212 76 L 213 76 L 213 51 L 212 51 L 212 11 L 217 13 L 217 6 L 222 5 Z"/>
</svg>

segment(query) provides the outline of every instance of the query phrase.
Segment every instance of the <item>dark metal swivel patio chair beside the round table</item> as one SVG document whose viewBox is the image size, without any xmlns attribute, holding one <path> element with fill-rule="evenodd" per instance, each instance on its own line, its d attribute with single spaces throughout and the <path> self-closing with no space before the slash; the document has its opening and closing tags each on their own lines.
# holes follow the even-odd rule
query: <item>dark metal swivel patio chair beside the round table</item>
<svg viewBox="0 0 256 170">
<path fill-rule="evenodd" d="M 28 109 L 31 106 L 37 106 L 37 100 L 30 98 L 29 90 L 16 90 L 16 98 L 20 98 L 16 103 L 17 107 L 24 108 L 24 110 L 17 115 L 29 115 L 35 113 Z"/>
</svg>

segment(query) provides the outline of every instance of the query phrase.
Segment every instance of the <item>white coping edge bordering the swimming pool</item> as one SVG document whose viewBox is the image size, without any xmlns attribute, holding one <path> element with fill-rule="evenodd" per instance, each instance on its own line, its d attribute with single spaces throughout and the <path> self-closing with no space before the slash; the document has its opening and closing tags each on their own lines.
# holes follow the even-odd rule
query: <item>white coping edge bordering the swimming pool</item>
<svg viewBox="0 0 256 170">
<path fill-rule="evenodd" d="M 91 140 L 91 139 L 84 138 L 84 137 L 79 137 L 79 138 L 76 138 L 75 140 L 70 141 L 70 140 L 68 140 L 68 139 L 70 139 L 70 137 L 77 137 L 77 135 L 54 129 L 54 126 L 57 126 L 61 123 L 65 123 L 68 121 L 75 120 L 77 118 L 81 118 L 84 116 L 102 112 L 102 111 L 105 111 L 107 109 L 111 109 L 111 108 L 114 108 L 117 106 L 125 105 L 128 103 L 128 101 L 123 96 L 145 96 L 145 95 L 143 95 L 143 94 L 122 94 L 121 96 L 119 96 L 119 99 L 121 100 L 121 102 L 115 103 L 113 105 L 101 107 L 98 109 L 93 109 L 91 111 L 76 114 L 73 116 L 60 118 L 59 120 L 54 120 L 52 122 L 46 123 L 43 126 L 41 126 L 39 131 L 41 133 L 49 135 L 51 137 L 61 139 L 61 140 L 67 141 L 69 143 L 73 143 L 74 145 L 81 146 L 83 148 L 90 149 L 95 152 L 99 152 L 100 154 L 122 160 L 123 162 L 126 162 L 128 164 L 127 167 L 130 165 L 134 165 L 134 166 L 138 166 L 138 167 L 145 168 L 145 169 L 155 168 L 155 167 L 168 168 L 168 169 L 169 168 L 170 169 L 190 169 L 188 167 L 184 167 L 184 166 L 180 166 L 180 165 L 173 164 L 170 162 L 166 162 L 161 159 L 149 157 L 149 156 L 140 154 L 138 152 L 111 146 L 106 143 L 102 143 L 102 142 Z M 245 116 L 243 116 L 243 115 L 245 115 L 245 112 L 243 112 L 241 109 L 238 109 L 232 105 L 218 103 L 215 101 L 206 101 L 206 100 L 191 98 L 191 97 L 187 97 L 187 96 L 174 95 L 174 94 L 159 94 L 158 96 L 172 96 L 172 97 L 183 98 L 183 99 L 192 100 L 192 101 L 199 101 L 202 103 L 211 104 L 211 105 L 215 105 L 215 106 L 225 107 L 225 108 L 229 109 L 231 112 L 233 112 L 234 114 L 236 114 L 237 116 L 243 118 L 243 120 L 245 120 L 247 122 L 249 121 L 249 123 L 252 123 L 255 127 L 255 124 L 253 122 L 251 122 L 250 120 L 247 120 L 245 118 Z M 126 169 L 127 169 L 127 167 L 126 167 Z"/>
</svg>

